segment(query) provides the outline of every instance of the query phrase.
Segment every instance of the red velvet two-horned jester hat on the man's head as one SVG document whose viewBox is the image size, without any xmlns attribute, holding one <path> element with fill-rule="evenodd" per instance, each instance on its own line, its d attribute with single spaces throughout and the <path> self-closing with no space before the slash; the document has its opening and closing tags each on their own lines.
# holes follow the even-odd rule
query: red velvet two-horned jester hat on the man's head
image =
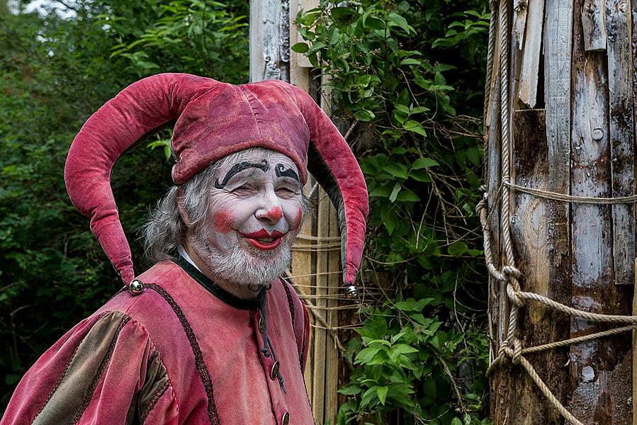
<svg viewBox="0 0 637 425">
<path fill-rule="evenodd" d="M 126 87 L 91 115 L 64 166 L 73 205 L 91 217 L 91 230 L 126 285 L 135 272 L 111 171 L 135 142 L 173 123 L 175 184 L 250 147 L 288 156 L 303 183 L 309 171 L 339 212 L 343 279 L 354 283 L 363 254 L 367 188 L 354 154 L 315 101 L 280 80 L 235 86 L 190 74 L 157 74 Z"/>
</svg>

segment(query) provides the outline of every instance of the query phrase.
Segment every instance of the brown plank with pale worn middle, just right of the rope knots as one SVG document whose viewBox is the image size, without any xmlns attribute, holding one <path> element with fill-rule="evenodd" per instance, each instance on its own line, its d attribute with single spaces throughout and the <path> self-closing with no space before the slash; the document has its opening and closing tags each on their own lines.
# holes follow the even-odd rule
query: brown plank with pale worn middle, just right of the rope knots
<svg viewBox="0 0 637 425">
<path fill-rule="evenodd" d="M 548 174 L 548 145 L 543 109 L 522 110 L 514 113 L 512 152 L 512 181 L 520 186 L 549 190 L 551 176 Z M 559 245 L 568 246 L 568 227 L 555 226 L 565 222 L 567 217 L 551 216 L 551 204 L 527 193 L 514 192 L 512 202 L 512 242 L 518 268 L 522 271 L 522 288 L 526 291 L 551 297 L 560 302 L 570 299 L 568 274 L 570 262 L 563 256 L 554 256 L 552 246 L 555 239 L 548 237 L 553 229 L 553 238 L 560 239 Z M 561 233 L 556 234 L 555 229 Z M 565 253 L 568 256 L 568 253 Z M 556 261 L 558 260 L 558 261 Z M 549 284 L 550 283 L 550 284 Z M 521 312 L 520 331 L 522 344 L 537 346 L 553 341 L 568 339 L 570 318 L 542 305 L 529 304 Z M 527 359 L 536 365 L 536 370 L 558 399 L 565 401 L 569 385 L 568 370 L 563 367 L 568 362 L 568 350 L 551 350 L 530 354 Z M 514 380 L 511 424 L 536 424 L 539 418 L 543 424 L 560 421 L 560 414 L 546 403 L 543 395 L 536 390 L 536 384 L 526 374 Z"/>
</svg>

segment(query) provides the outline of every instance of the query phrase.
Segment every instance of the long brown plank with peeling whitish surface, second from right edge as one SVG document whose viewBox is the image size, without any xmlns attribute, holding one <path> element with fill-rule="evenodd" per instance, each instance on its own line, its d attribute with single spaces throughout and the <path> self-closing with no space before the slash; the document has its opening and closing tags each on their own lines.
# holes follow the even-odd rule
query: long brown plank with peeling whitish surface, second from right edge
<svg viewBox="0 0 637 425">
<path fill-rule="evenodd" d="M 575 0 L 582 10 L 583 0 Z M 575 196 L 610 196 L 609 91 L 607 58 L 587 52 L 579 19 L 573 43 L 573 164 L 571 192 Z M 577 204 L 572 208 L 573 285 L 571 305 L 606 314 L 629 314 L 632 288 L 614 285 L 612 217 L 610 205 Z M 571 319 L 571 336 L 607 329 Z M 596 339 L 570 348 L 569 409 L 586 424 L 621 424 L 630 417 L 622 388 L 631 386 L 624 361 L 630 350 L 625 336 Z"/>
</svg>

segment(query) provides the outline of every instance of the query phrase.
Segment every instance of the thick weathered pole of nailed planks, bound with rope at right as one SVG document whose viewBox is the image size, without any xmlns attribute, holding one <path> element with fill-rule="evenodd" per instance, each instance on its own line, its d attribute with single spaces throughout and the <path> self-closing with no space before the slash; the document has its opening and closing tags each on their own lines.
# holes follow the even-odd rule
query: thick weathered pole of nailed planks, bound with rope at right
<svg viewBox="0 0 637 425">
<path fill-rule="evenodd" d="M 521 291 L 585 312 L 633 314 L 635 210 L 626 197 L 635 193 L 637 0 L 507 1 L 492 1 L 497 25 L 485 103 L 495 266 L 511 265 L 503 237 L 509 227 Z M 529 351 L 624 324 L 528 298 L 509 322 L 516 307 L 507 282 L 490 278 L 494 423 L 568 423 L 560 403 L 582 424 L 637 424 L 628 332 Z M 517 341 L 558 403 L 516 358 Z"/>
</svg>

